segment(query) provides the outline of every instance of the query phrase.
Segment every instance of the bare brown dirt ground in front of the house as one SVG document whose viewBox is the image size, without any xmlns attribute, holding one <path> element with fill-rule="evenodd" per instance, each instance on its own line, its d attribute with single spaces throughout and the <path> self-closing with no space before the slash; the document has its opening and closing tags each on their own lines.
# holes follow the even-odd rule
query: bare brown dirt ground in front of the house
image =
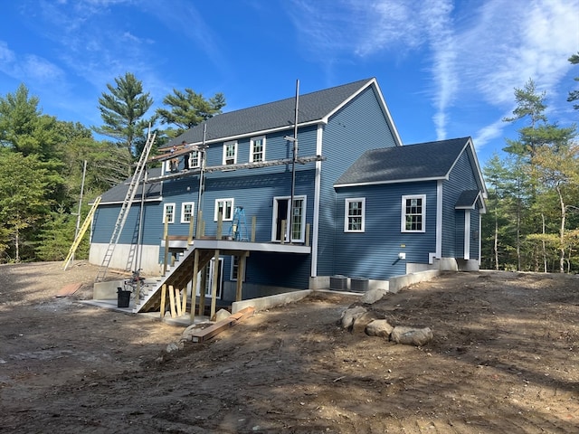
<svg viewBox="0 0 579 434">
<path fill-rule="evenodd" d="M 573 276 L 445 274 L 372 305 L 424 347 L 339 328 L 359 297 L 331 292 L 166 353 L 185 327 L 80 302 L 96 272 L 0 265 L 0 432 L 579 432 Z"/>
</svg>

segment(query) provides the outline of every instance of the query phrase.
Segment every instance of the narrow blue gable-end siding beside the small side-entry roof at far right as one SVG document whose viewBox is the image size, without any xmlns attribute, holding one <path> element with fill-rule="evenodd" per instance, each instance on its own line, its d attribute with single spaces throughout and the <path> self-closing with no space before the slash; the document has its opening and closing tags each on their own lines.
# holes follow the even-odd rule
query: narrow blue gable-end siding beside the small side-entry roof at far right
<svg viewBox="0 0 579 434">
<path fill-rule="evenodd" d="M 464 211 L 456 210 L 456 202 L 464 190 L 478 190 L 476 178 L 467 152 L 460 154 L 448 181 L 442 184 L 442 257 L 462 258 L 464 250 Z M 462 213 L 462 226 L 457 216 Z M 460 230 L 460 240 L 457 231 Z M 457 248 L 460 246 L 460 249 Z"/>
</svg>

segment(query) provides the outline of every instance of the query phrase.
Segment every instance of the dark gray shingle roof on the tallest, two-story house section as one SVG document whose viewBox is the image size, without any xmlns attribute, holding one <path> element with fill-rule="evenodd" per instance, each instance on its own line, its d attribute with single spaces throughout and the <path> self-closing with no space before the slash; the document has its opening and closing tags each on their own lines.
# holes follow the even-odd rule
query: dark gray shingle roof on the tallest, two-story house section
<svg viewBox="0 0 579 434">
<path fill-rule="evenodd" d="M 335 88 L 318 90 L 299 95 L 299 124 L 314 122 L 327 117 L 346 99 L 363 89 L 370 80 L 358 80 Z M 276 128 L 292 127 L 295 118 L 295 97 L 222 113 L 207 119 L 207 141 L 236 137 Z M 169 141 L 166 146 L 203 141 L 203 125 L 197 125 Z"/>
</svg>

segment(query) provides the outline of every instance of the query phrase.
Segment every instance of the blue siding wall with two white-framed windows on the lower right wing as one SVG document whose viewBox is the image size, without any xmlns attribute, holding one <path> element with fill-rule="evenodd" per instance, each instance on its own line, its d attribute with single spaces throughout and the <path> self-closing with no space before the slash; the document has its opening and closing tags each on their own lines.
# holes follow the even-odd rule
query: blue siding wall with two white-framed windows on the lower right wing
<svg viewBox="0 0 579 434">
<path fill-rule="evenodd" d="M 426 195 L 426 231 L 401 231 L 402 196 Z M 346 198 L 365 197 L 365 232 L 344 232 Z M 403 275 L 406 262 L 428 263 L 436 242 L 436 183 L 339 188 L 335 262 L 331 275 L 387 279 Z M 403 247 L 402 247 L 403 246 Z M 398 259 L 398 253 L 406 259 Z"/>
</svg>

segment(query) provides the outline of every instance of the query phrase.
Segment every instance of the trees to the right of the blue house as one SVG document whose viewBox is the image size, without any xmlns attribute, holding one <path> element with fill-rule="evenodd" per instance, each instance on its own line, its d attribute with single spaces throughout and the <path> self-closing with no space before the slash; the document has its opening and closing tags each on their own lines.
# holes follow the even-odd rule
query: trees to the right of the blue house
<svg viewBox="0 0 579 434">
<path fill-rule="evenodd" d="M 569 59 L 579 63 L 579 53 Z M 574 78 L 579 81 L 579 77 Z M 489 190 L 482 220 L 486 269 L 579 271 L 579 144 L 576 125 L 547 118 L 546 93 L 534 80 L 515 90 L 508 123 L 521 125 L 507 139 L 505 156 L 492 156 L 483 172 Z M 567 101 L 579 110 L 579 90 Z M 573 111 L 573 110 L 572 110 Z"/>
</svg>

